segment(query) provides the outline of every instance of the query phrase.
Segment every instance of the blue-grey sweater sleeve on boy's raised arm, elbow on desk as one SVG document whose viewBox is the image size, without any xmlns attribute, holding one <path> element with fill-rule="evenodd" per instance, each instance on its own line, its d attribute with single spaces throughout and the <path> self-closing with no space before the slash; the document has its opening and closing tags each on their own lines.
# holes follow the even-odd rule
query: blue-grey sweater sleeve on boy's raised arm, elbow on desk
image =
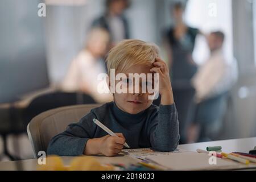
<svg viewBox="0 0 256 182">
<path fill-rule="evenodd" d="M 179 139 L 179 121 L 175 104 L 160 105 L 150 125 L 152 148 L 163 152 L 174 151 Z"/>
</svg>

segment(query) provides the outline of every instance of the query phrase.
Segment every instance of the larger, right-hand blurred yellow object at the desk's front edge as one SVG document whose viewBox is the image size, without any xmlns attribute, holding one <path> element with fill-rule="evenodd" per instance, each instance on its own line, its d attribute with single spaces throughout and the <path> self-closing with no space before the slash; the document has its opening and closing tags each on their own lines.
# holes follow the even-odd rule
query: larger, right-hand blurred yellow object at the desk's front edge
<svg viewBox="0 0 256 182">
<path fill-rule="evenodd" d="M 81 156 L 74 158 L 69 170 L 71 171 L 110 171 L 112 166 L 102 166 L 98 160 L 92 156 Z"/>
</svg>

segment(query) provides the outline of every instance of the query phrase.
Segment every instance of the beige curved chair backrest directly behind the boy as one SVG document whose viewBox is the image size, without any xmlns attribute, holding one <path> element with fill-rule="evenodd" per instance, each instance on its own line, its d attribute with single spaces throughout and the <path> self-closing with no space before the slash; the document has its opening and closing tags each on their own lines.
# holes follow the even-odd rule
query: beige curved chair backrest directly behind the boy
<svg viewBox="0 0 256 182">
<path fill-rule="evenodd" d="M 47 151 L 52 137 L 65 131 L 70 123 L 78 122 L 91 109 L 101 104 L 65 106 L 45 111 L 34 117 L 27 126 L 35 159 L 39 151 Z"/>
</svg>

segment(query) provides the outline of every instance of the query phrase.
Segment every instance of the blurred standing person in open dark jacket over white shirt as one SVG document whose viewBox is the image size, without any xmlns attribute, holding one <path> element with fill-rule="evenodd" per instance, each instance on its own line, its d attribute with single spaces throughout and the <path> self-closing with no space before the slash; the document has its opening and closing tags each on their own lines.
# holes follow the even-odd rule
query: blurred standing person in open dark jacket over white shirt
<svg viewBox="0 0 256 182">
<path fill-rule="evenodd" d="M 129 0 L 106 0 L 106 10 L 95 19 L 92 27 L 105 28 L 110 35 L 110 48 L 123 39 L 129 39 L 129 23 L 123 14 L 130 6 Z"/>
</svg>

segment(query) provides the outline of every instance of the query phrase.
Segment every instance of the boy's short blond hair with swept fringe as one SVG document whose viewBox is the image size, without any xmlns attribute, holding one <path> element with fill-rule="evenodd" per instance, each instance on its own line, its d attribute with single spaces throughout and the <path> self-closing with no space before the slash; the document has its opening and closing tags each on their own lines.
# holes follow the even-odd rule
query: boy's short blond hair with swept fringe
<svg viewBox="0 0 256 182">
<path fill-rule="evenodd" d="M 106 59 L 108 74 L 110 75 L 110 69 L 123 72 L 133 65 L 150 65 L 156 57 L 159 57 L 159 47 L 156 44 L 137 39 L 123 40 L 109 51 Z"/>
</svg>

